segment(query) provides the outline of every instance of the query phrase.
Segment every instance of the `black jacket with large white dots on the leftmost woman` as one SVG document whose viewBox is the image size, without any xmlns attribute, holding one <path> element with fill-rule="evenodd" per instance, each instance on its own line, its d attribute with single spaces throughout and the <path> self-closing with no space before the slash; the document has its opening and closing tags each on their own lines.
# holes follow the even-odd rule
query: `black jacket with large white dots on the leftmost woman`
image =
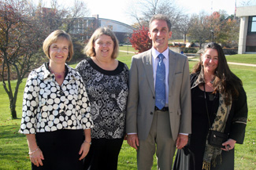
<svg viewBox="0 0 256 170">
<path fill-rule="evenodd" d="M 92 128 L 91 107 L 80 74 L 65 65 L 68 73 L 60 86 L 47 64 L 28 76 L 20 133 Z"/>
</svg>

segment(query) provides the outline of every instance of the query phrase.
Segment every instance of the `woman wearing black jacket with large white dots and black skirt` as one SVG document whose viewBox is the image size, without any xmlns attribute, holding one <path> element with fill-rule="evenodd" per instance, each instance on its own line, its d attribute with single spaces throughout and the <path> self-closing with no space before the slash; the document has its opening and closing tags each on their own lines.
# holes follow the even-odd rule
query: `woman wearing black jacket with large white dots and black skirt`
<svg viewBox="0 0 256 170">
<path fill-rule="evenodd" d="M 20 125 L 28 139 L 32 169 L 83 169 L 93 122 L 83 79 L 65 64 L 73 55 L 70 35 L 52 32 L 43 51 L 49 63 L 28 76 Z"/>
</svg>

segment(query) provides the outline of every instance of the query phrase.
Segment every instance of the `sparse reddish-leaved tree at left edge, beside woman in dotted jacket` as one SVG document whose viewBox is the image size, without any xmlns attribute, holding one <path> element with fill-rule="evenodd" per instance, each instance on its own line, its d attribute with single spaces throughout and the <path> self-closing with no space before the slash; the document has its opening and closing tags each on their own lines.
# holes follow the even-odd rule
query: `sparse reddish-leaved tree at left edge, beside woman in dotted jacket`
<svg viewBox="0 0 256 170">
<path fill-rule="evenodd" d="M 17 118 L 16 102 L 19 85 L 32 65 L 38 63 L 35 56 L 43 42 L 41 28 L 28 14 L 25 1 L 6 0 L 0 3 L 0 57 L 2 85 L 9 97 L 12 118 Z M 11 85 L 15 72 L 17 82 Z"/>
</svg>

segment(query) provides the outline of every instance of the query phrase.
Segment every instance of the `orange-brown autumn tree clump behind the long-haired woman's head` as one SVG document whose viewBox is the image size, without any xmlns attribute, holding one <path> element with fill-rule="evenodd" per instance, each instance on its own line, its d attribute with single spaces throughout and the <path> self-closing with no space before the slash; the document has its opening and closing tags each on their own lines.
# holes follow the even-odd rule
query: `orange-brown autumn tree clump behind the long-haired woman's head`
<svg viewBox="0 0 256 170">
<path fill-rule="evenodd" d="M 226 11 L 213 12 L 210 15 L 200 13 L 191 16 L 189 36 L 195 42 L 217 42 L 221 45 L 236 46 L 239 38 L 239 21 L 228 16 Z"/>
</svg>

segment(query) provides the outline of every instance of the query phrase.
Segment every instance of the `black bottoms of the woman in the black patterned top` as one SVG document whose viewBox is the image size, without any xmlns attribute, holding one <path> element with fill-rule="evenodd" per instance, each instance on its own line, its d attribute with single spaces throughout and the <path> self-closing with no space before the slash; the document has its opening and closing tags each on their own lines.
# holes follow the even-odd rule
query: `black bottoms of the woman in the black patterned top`
<svg viewBox="0 0 256 170">
<path fill-rule="evenodd" d="M 91 139 L 84 159 L 84 170 L 116 170 L 118 154 L 124 139 Z"/>
</svg>

